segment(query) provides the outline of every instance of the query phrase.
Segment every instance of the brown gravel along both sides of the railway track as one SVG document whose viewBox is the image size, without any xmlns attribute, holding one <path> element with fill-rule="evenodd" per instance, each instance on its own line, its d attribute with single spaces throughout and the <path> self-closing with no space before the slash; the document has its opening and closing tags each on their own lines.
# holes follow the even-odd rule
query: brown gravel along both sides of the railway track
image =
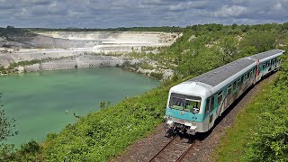
<svg viewBox="0 0 288 162">
<path fill-rule="evenodd" d="M 236 103 L 230 106 L 226 112 L 223 112 L 212 130 L 195 136 L 194 138 L 199 141 L 190 149 L 183 161 L 215 161 L 215 159 L 211 159 L 211 153 L 214 148 L 217 148 L 220 137 L 225 134 L 227 128 L 233 125 L 238 112 L 240 112 L 254 96 L 259 94 L 264 83 L 271 82 L 273 78 L 275 78 L 275 74 L 259 82 L 253 88 L 248 89 L 244 95 L 238 98 Z M 165 137 L 165 130 L 161 124 L 155 129 L 155 132 L 150 134 L 147 138 L 136 141 L 134 144 L 130 145 L 121 157 L 116 157 L 111 161 L 148 161 L 151 157 L 156 155 L 169 140 L 169 138 Z"/>
</svg>

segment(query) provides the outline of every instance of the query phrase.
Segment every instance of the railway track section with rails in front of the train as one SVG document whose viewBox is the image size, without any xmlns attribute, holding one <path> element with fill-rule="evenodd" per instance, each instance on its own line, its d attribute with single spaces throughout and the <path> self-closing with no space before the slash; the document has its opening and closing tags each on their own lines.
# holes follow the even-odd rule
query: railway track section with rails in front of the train
<svg viewBox="0 0 288 162">
<path fill-rule="evenodd" d="M 196 139 L 182 139 L 178 135 L 175 135 L 166 145 L 152 157 L 149 162 L 157 161 L 181 161 L 185 155 L 189 152 Z"/>
</svg>

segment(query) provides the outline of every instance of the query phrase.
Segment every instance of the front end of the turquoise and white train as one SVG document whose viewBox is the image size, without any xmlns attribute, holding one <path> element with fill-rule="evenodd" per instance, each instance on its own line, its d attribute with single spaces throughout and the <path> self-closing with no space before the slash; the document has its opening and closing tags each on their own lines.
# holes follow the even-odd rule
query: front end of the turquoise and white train
<svg viewBox="0 0 288 162">
<path fill-rule="evenodd" d="M 187 94 L 169 94 L 166 106 L 166 133 L 180 132 L 194 135 L 204 132 L 202 119 L 204 117 L 203 100 L 201 96 Z"/>
</svg>

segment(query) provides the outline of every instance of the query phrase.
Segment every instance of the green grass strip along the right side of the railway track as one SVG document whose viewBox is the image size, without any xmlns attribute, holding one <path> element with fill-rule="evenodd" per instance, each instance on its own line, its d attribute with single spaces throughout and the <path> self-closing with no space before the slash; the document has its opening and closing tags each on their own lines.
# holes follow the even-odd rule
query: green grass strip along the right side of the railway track
<svg viewBox="0 0 288 162">
<path fill-rule="evenodd" d="M 247 141 L 257 130 L 260 112 L 266 111 L 266 100 L 272 89 L 267 80 L 262 81 L 261 90 L 238 115 L 235 124 L 226 130 L 220 139 L 220 146 L 215 149 L 212 158 L 216 161 L 243 161 Z"/>
</svg>

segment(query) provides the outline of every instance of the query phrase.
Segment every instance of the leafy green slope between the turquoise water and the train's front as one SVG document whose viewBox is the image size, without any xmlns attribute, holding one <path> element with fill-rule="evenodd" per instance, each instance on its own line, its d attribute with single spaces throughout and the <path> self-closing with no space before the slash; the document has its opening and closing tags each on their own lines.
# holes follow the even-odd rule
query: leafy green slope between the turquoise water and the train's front
<svg viewBox="0 0 288 162">
<path fill-rule="evenodd" d="M 131 142 L 145 136 L 159 123 L 167 88 L 132 97 L 99 113 L 89 113 L 46 145 L 48 159 L 103 161 L 119 155 Z"/>
</svg>

